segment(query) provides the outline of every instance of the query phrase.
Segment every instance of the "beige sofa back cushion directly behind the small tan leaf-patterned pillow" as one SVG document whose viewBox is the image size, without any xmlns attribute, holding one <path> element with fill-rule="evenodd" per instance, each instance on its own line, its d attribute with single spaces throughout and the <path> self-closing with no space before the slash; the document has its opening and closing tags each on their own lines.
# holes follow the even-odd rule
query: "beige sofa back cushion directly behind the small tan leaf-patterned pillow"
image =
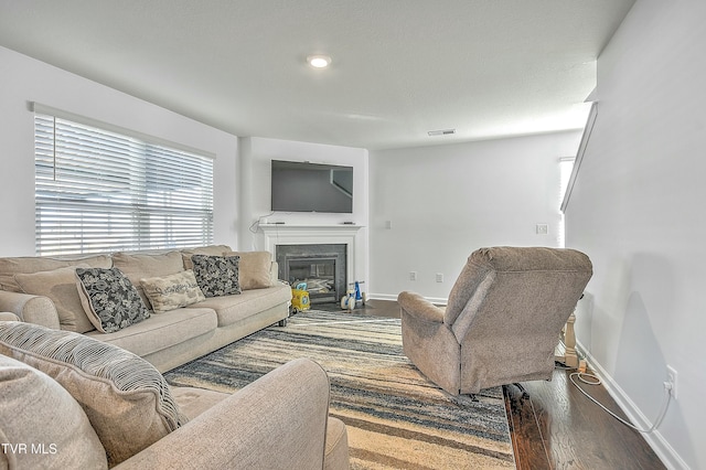
<svg viewBox="0 0 706 470">
<path fill-rule="evenodd" d="M 140 279 L 148 277 L 169 276 L 184 270 L 181 253 L 176 250 L 113 254 L 113 266 L 120 269 L 130 279 L 142 297 L 145 305 L 150 308 L 150 301 L 142 291 Z"/>
</svg>

